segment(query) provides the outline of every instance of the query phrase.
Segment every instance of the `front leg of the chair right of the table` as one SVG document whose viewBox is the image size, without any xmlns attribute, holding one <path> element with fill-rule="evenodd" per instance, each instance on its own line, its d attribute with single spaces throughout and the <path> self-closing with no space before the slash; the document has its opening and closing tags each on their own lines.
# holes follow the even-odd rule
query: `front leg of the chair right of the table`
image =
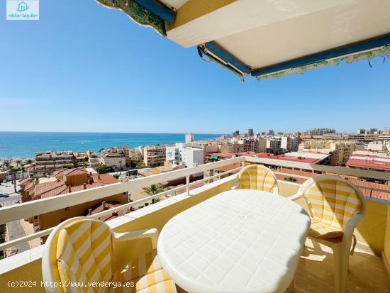
<svg viewBox="0 0 390 293">
<path fill-rule="evenodd" d="M 333 263 L 335 272 L 335 293 L 344 293 L 347 286 L 348 262 L 350 249 L 342 249 L 344 245 L 333 248 Z"/>
</svg>

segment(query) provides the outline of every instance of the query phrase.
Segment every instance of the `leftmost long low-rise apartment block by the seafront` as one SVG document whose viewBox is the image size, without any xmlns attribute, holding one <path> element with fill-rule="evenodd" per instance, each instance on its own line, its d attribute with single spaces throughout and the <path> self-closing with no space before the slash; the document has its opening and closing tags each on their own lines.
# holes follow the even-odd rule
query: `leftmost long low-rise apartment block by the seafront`
<svg viewBox="0 0 390 293">
<path fill-rule="evenodd" d="M 72 151 L 35 152 L 35 176 L 43 177 L 54 170 L 74 167 Z"/>
</svg>

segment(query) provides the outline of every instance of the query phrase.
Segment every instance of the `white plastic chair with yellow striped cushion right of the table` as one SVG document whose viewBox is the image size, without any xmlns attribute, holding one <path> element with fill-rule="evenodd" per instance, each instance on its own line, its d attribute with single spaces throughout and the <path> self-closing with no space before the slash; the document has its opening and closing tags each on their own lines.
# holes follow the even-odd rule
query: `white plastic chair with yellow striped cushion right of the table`
<svg viewBox="0 0 390 293">
<path fill-rule="evenodd" d="M 345 292 L 349 259 L 356 245 L 353 231 L 364 217 L 366 209 L 362 192 L 340 177 L 318 176 L 304 182 L 297 194 L 289 199 L 300 197 L 306 199 L 311 216 L 308 236 L 311 240 L 332 248 L 335 292 Z M 330 217 L 332 221 L 329 220 Z M 352 238 L 354 245 L 351 250 Z"/>
</svg>

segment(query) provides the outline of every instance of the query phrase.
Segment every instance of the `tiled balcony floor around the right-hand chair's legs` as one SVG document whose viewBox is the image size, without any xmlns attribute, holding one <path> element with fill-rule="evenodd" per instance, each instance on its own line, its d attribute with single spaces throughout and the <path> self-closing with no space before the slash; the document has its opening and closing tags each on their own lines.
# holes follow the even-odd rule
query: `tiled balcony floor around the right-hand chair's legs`
<svg viewBox="0 0 390 293">
<path fill-rule="evenodd" d="M 355 250 L 350 257 L 348 293 L 390 293 L 386 271 L 381 258 Z M 296 270 L 295 292 L 334 292 L 333 254 L 330 248 L 306 241 Z"/>
</svg>

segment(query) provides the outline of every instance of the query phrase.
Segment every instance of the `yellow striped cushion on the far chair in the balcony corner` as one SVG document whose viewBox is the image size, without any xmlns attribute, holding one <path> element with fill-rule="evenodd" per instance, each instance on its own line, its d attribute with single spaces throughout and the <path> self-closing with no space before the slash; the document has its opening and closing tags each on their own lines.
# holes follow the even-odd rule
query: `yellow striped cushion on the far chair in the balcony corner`
<svg viewBox="0 0 390 293">
<path fill-rule="evenodd" d="M 239 189 L 256 189 L 264 192 L 272 192 L 277 187 L 272 171 L 262 165 L 250 165 L 238 173 Z"/>
</svg>

